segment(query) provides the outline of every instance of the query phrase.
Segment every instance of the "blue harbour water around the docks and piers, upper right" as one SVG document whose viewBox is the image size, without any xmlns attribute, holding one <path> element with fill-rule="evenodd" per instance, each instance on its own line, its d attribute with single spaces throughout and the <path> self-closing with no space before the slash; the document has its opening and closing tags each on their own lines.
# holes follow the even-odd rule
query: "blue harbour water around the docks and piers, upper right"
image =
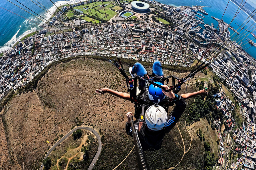
<svg viewBox="0 0 256 170">
<path fill-rule="evenodd" d="M 213 23 L 214 28 L 218 27 L 218 22 L 216 20 L 214 20 L 213 18 L 211 18 L 211 16 L 213 16 L 215 18 L 218 18 L 218 19 L 221 19 L 222 15 L 225 11 L 225 8 L 228 4 L 226 12 L 223 16 L 223 20 L 224 20 L 224 22 L 229 24 L 231 22 L 233 16 L 235 15 L 237 9 L 238 9 L 238 6 L 236 4 L 234 4 L 231 1 L 229 1 L 229 3 L 228 3 L 228 0 L 184 0 L 184 1 L 181 1 L 181 0 L 158 0 L 158 2 L 163 3 L 163 4 L 167 4 L 167 5 L 172 5 L 172 6 L 175 6 L 175 7 L 193 6 L 193 5 L 211 6 L 211 8 L 203 8 L 208 13 L 208 15 L 204 15 L 205 18 L 203 18 L 203 20 L 204 20 L 205 24 L 211 25 L 211 23 Z M 241 5 L 241 7 L 242 7 L 242 5 Z M 201 16 L 199 16 L 199 15 L 197 15 L 197 16 L 201 18 Z M 250 30 L 251 28 L 256 26 L 256 24 L 255 24 L 255 21 L 253 19 L 250 20 L 250 18 L 248 18 L 248 17 L 249 17 L 249 15 L 247 15 L 243 10 L 241 10 L 230 25 L 232 27 L 234 27 L 235 30 L 238 29 L 237 32 L 239 32 L 241 30 L 241 28 L 239 28 L 238 25 L 242 25 L 242 27 L 245 26 L 244 27 L 245 29 Z M 236 24 L 238 24 L 238 25 L 236 25 Z M 201 24 L 200 26 L 202 28 L 204 28 L 204 24 Z M 253 31 L 254 29 L 256 29 L 256 27 L 254 27 L 251 31 Z M 234 41 L 238 38 L 236 40 L 236 42 L 238 44 L 240 44 L 242 42 L 242 45 L 241 45 L 242 48 L 243 49 L 248 48 L 246 50 L 246 52 L 256 59 L 256 53 L 255 53 L 256 48 L 254 46 L 251 46 L 248 43 L 248 41 L 246 40 L 245 36 L 244 36 L 244 33 L 246 33 L 247 31 L 242 30 L 240 32 L 240 35 L 237 35 L 231 29 L 229 29 L 229 31 L 230 31 L 230 35 L 232 35 L 231 40 L 233 39 L 233 41 Z M 256 30 L 253 31 L 253 33 L 256 35 Z M 248 35 L 248 34 L 249 33 L 247 33 L 245 35 Z M 251 40 L 254 39 L 254 37 L 252 35 L 249 35 L 248 38 L 251 39 Z M 256 39 L 253 40 L 253 41 L 256 42 Z"/>
</svg>

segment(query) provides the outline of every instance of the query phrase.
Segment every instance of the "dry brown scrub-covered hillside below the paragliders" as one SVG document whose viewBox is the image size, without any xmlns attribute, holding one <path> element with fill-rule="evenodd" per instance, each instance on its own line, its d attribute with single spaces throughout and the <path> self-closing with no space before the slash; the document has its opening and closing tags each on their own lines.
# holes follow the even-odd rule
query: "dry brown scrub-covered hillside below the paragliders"
<svg viewBox="0 0 256 170">
<path fill-rule="evenodd" d="M 128 67 L 125 69 L 128 70 Z M 147 70 L 150 72 L 150 69 Z M 178 77 L 184 77 L 187 74 L 167 70 L 164 70 L 164 73 Z M 204 74 L 200 73 L 199 76 L 203 77 Z M 187 83 L 192 84 L 194 81 L 193 79 Z M 0 159 L 12 160 L 12 169 L 22 169 L 23 166 L 24 169 L 39 168 L 45 153 L 50 146 L 56 143 L 59 135 L 67 134 L 76 126 L 88 126 L 105 135 L 105 142 L 94 169 L 116 167 L 133 147 L 133 140 L 126 135 L 124 128 L 125 114 L 128 111 L 133 112 L 134 107 L 129 101 L 109 94 L 98 95 L 94 92 L 95 89 L 103 87 L 127 92 L 124 78 L 108 62 L 93 59 L 73 60 L 51 67 L 38 82 L 35 91 L 15 95 L 5 108 L 2 118 L 8 152 L 11 156 L 8 157 L 5 150 L 4 154 L 0 155 Z M 180 94 L 185 91 L 184 86 Z M 187 93 L 193 91 L 193 87 L 188 85 Z M 159 151 L 146 152 L 152 169 L 174 167 L 184 154 L 184 145 L 185 151 L 188 150 L 190 135 L 184 122 L 187 114 L 188 107 L 178 124 L 182 137 L 178 127 L 175 126 L 165 136 L 163 147 Z M 203 125 L 196 126 L 196 124 L 187 127 L 192 135 L 192 144 L 188 153 L 176 167 L 177 169 L 203 168 L 204 144 L 196 134 L 197 128 L 203 128 Z M 0 130 L 3 130 L 2 126 Z M 205 136 L 208 135 L 207 131 L 203 133 Z M 209 134 L 214 134 L 211 128 L 209 128 Z M 5 136 L 0 137 L 4 139 Z M 212 138 L 212 145 L 214 145 L 216 143 L 214 135 Z M 2 143 L 7 145 L 7 142 Z M 136 169 L 136 167 L 136 157 L 133 151 L 117 169 Z M 0 164 L 0 169 L 10 168 Z"/>
</svg>

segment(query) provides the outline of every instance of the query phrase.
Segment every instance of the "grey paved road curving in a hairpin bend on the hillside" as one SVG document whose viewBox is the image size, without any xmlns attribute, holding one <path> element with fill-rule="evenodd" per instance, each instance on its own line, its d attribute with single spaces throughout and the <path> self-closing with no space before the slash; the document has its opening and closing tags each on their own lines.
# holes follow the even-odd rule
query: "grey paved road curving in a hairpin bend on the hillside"
<svg viewBox="0 0 256 170">
<path fill-rule="evenodd" d="M 88 127 L 78 127 L 78 128 L 74 128 L 73 130 L 71 130 L 68 134 L 66 134 L 65 136 L 63 136 L 55 145 L 53 145 L 53 147 L 51 147 L 51 149 L 47 152 L 47 154 L 45 155 L 44 159 L 46 159 L 50 153 L 55 149 L 56 146 L 58 146 L 63 140 L 65 140 L 68 136 L 70 136 L 74 131 L 76 131 L 77 129 L 81 129 L 81 130 L 89 130 L 91 131 L 96 137 L 97 137 L 97 140 L 99 142 L 99 148 L 98 148 L 98 151 L 95 155 L 95 157 L 93 158 L 92 160 L 92 163 L 91 165 L 89 166 L 88 170 L 92 170 L 93 168 L 93 164 L 96 163 L 97 159 L 99 158 L 100 156 L 100 152 L 101 152 L 101 138 L 100 138 L 100 135 L 97 131 L 95 131 L 94 129 L 92 128 L 88 128 Z M 42 170 L 44 167 L 43 163 L 41 165 L 41 167 L 39 168 L 39 170 Z"/>
</svg>

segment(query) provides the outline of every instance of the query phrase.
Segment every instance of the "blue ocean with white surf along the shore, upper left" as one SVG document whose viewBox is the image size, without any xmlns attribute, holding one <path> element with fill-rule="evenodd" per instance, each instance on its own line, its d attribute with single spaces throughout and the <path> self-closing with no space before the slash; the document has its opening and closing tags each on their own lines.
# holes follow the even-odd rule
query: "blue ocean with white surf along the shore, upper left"
<svg viewBox="0 0 256 170">
<path fill-rule="evenodd" d="M 43 9 L 45 9 L 44 7 L 41 6 L 43 8 L 43 9 L 41 9 L 36 4 L 34 4 L 33 2 L 37 3 L 35 0 L 17 0 L 18 2 L 15 0 L 9 0 L 9 1 L 13 2 L 14 4 L 20 6 L 21 8 L 25 9 L 26 11 L 37 16 L 36 14 L 34 14 L 30 10 L 28 10 L 26 7 L 24 7 L 18 3 L 18 2 L 20 2 L 23 5 L 27 6 L 29 9 L 33 10 L 37 14 L 44 17 L 45 19 L 49 19 L 51 17 L 50 12 L 53 13 L 57 9 L 57 7 L 50 0 L 37 0 L 45 8 L 47 8 L 49 10 L 50 14 L 43 10 Z M 66 4 L 65 1 L 58 1 L 58 0 L 52 0 L 52 1 L 57 6 Z M 39 25 L 44 24 L 43 21 L 37 19 L 36 17 L 32 16 L 31 14 L 27 13 L 26 11 L 20 9 L 19 7 L 15 6 L 11 2 L 8 2 L 7 0 L 0 1 L 0 7 L 6 9 L 6 10 L 4 10 L 4 9 L 0 8 L 0 18 L 1 18 L 0 53 L 1 53 L 1 51 L 4 51 L 4 50 L 12 47 L 15 44 L 15 42 L 17 42 L 19 39 L 21 39 L 25 35 L 30 34 L 36 30 L 41 30 L 42 28 L 40 28 Z M 80 1 L 79 0 L 69 0 L 69 1 L 67 0 L 67 2 L 69 4 L 73 4 L 73 3 L 80 2 Z M 39 3 L 37 3 L 37 4 L 40 5 Z M 13 14 L 7 10 L 9 10 L 13 13 L 16 13 L 20 16 Z M 21 16 L 24 18 L 22 18 Z M 40 18 L 40 19 L 42 19 L 42 18 Z"/>
</svg>

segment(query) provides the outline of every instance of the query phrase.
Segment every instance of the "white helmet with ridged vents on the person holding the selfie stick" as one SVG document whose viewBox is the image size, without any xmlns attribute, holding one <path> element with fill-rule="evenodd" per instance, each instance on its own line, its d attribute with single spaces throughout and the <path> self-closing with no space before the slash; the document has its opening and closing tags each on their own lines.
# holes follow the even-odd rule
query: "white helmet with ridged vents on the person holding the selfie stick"
<svg viewBox="0 0 256 170">
<path fill-rule="evenodd" d="M 167 113 L 162 106 L 150 106 L 145 112 L 144 122 L 151 130 L 161 130 L 167 122 Z"/>
</svg>

